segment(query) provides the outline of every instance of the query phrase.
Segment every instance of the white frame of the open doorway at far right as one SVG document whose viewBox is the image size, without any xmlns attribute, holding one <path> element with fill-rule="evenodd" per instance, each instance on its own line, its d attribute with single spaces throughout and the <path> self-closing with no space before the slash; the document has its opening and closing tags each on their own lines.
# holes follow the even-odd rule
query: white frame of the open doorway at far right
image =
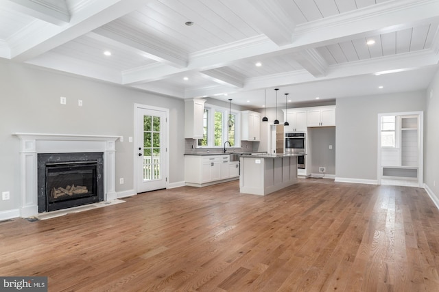
<svg viewBox="0 0 439 292">
<path fill-rule="evenodd" d="M 418 123 L 419 123 L 419 151 L 418 151 L 418 187 L 423 187 L 424 185 L 424 111 L 403 111 L 397 113 L 383 113 L 378 114 L 378 122 L 377 122 L 377 136 L 378 136 L 378 144 L 377 144 L 377 184 L 381 185 L 381 117 L 382 116 L 410 116 L 410 115 L 418 115 Z"/>
</svg>

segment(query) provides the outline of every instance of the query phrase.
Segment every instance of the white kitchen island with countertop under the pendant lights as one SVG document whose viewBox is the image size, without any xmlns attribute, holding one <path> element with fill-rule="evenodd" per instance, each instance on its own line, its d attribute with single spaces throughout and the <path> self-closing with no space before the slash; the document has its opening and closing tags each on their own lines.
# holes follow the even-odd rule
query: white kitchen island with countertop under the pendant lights
<svg viewBox="0 0 439 292">
<path fill-rule="evenodd" d="M 240 159 L 239 192 L 265 196 L 297 183 L 297 157 L 288 155 L 243 155 Z"/>
</svg>

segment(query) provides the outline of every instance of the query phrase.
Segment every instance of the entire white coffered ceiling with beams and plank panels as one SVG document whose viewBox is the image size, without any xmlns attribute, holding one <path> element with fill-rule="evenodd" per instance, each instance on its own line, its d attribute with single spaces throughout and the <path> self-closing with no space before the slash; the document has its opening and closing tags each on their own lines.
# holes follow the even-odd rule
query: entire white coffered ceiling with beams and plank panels
<svg viewBox="0 0 439 292">
<path fill-rule="evenodd" d="M 0 57 L 274 107 L 425 89 L 438 25 L 439 0 L 2 0 Z"/>
</svg>

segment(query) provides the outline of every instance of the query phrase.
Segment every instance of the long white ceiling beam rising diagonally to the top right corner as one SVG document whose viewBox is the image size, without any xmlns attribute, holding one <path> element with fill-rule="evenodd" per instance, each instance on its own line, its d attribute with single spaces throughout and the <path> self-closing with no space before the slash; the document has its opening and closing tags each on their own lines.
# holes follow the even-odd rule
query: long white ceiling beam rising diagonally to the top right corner
<svg viewBox="0 0 439 292">
<path fill-rule="evenodd" d="M 230 0 L 233 1 L 233 0 Z M 236 1 L 240 2 L 240 1 Z M 235 3 L 235 2 L 234 2 Z M 377 8 L 379 6 L 379 8 Z M 351 38 L 374 36 L 396 28 L 403 28 L 402 23 L 419 23 L 423 21 L 423 15 L 429 18 L 439 18 L 439 0 L 401 0 L 388 1 L 372 5 L 361 10 L 355 10 L 342 14 L 342 16 L 322 18 L 319 21 L 298 25 L 293 33 L 292 44 L 278 47 L 265 35 L 248 38 L 241 42 L 234 42 L 211 50 L 200 51 L 189 55 L 189 64 L 186 70 L 210 70 L 228 66 L 239 59 L 254 57 L 264 54 L 298 53 L 300 51 L 335 44 Z M 325 64 L 320 63 L 314 53 L 308 51 L 305 54 L 305 68 L 316 77 L 326 74 Z M 314 60 L 313 60 L 314 58 Z M 312 61 L 310 62 L 310 61 Z M 320 63 L 320 64 L 319 64 Z M 123 74 L 123 82 L 144 83 L 158 79 L 164 79 L 167 74 L 177 72 L 166 64 L 156 66 L 156 70 L 127 71 Z M 178 70 L 184 72 L 184 70 Z"/>
</svg>

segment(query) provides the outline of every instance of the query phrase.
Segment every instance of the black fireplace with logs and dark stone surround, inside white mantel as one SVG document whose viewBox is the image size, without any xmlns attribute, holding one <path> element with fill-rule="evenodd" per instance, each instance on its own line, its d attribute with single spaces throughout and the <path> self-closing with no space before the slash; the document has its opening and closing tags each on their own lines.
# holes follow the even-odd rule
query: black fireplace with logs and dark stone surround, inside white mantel
<svg viewBox="0 0 439 292">
<path fill-rule="evenodd" d="M 38 213 L 104 200 L 103 153 L 38 154 Z"/>
</svg>

